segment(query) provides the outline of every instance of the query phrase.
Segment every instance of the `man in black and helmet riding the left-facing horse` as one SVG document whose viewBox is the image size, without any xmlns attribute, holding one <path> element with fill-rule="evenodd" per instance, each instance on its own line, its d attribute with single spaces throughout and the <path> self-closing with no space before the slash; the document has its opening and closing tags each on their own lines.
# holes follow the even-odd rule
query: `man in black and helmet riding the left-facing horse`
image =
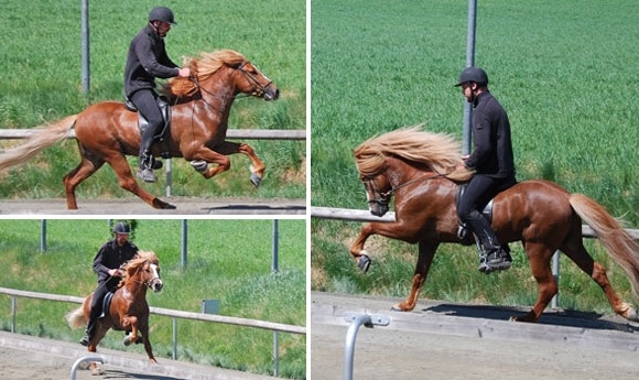
<svg viewBox="0 0 639 380">
<path fill-rule="evenodd" d="M 481 210 L 499 192 L 515 185 L 515 160 L 510 138 L 508 115 L 488 90 L 488 75 L 479 67 L 467 67 L 459 75 L 462 91 L 473 104 L 473 153 L 464 155 L 464 165 L 475 171 L 463 197 L 459 199 L 457 216 L 472 229 L 481 246 L 484 254 L 479 271 L 490 273 L 507 270 L 512 259 L 508 245 L 501 246 Z"/>
</svg>

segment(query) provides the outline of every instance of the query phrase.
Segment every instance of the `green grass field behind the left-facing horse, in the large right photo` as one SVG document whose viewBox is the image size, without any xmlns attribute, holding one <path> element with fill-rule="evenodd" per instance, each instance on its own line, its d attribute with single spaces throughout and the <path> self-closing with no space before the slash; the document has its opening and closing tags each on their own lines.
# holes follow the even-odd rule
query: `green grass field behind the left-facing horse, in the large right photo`
<svg viewBox="0 0 639 380">
<path fill-rule="evenodd" d="M 633 8 L 628 0 L 479 1 L 475 57 L 509 113 L 518 180 L 584 193 L 629 227 L 639 226 Z M 465 99 L 453 85 L 466 63 L 468 4 L 328 0 L 311 11 L 311 203 L 366 209 L 351 156 L 359 143 L 419 123 L 462 138 Z M 416 247 L 371 240 L 376 261 L 362 275 L 348 254 L 359 227 L 312 221 L 312 287 L 404 297 Z M 422 295 L 531 305 L 537 286 L 521 246 L 512 247 L 515 267 L 491 276 L 476 273 L 473 247 L 441 247 Z M 631 300 L 621 270 L 598 243 L 588 247 Z M 563 258 L 561 274 L 561 306 L 610 311 L 598 286 Z"/>
</svg>

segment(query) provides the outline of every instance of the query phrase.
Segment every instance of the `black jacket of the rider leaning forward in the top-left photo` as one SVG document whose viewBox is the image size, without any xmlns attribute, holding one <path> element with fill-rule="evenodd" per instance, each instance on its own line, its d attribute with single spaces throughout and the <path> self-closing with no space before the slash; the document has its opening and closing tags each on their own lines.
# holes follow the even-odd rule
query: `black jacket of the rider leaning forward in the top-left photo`
<svg viewBox="0 0 639 380">
<path fill-rule="evenodd" d="M 178 66 L 166 55 L 164 40 L 148 24 L 129 45 L 124 94 L 130 97 L 139 89 L 155 88 L 155 78 L 171 78 L 178 73 Z"/>
</svg>

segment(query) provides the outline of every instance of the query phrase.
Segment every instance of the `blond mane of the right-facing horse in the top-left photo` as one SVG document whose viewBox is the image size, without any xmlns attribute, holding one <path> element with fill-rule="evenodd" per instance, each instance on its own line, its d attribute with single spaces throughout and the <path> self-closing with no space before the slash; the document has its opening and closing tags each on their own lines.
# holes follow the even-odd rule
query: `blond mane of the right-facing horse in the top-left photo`
<svg viewBox="0 0 639 380">
<path fill-rule="evenodd" d="M 185 57 L 184 67 L 189 67 L 192 75 L 197 82 L 204 82 L 224 66 L 237 67 L 246 62 L 240 53 L 223 48 L 213 53 L 199 53 L 199 57 Z M 199 89 L 191 78 L 173 77 L 162 87 L 162 93 L 174 100 L 177 98 L 189 99 L 199 93 Z"/>
</svg>

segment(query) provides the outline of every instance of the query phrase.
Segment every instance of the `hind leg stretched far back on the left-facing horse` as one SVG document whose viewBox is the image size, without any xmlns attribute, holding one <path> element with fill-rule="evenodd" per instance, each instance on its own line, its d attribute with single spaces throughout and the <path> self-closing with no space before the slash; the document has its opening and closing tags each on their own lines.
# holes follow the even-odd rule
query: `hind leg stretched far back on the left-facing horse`
<svg viewBox="0 0 639 380">
<path fill-rule="evenodd" d="M 584 247 L 581 234 L 578 237 L 574 236 L 574 238 L 567 240 L 564 245 L 562 245 L 562 247 L 560 247 L 560 249 L 571 260 L 573 260 L 582 271 L 589 275 L 591 279 L 593 279 L 602 287 L 604 294 L 606 294 L 606 297 L 608 298 L 608 303 L 615 313 L 619 314 L 626 319 L 637 321 L 637 311 L 632 305 L 619 298 L 613 289 L 610 281 L 608 280 L 608 275 L 606 275 L 606 268 L 596 262 L 588 254 L 586 248 Z"/>
</svg>

